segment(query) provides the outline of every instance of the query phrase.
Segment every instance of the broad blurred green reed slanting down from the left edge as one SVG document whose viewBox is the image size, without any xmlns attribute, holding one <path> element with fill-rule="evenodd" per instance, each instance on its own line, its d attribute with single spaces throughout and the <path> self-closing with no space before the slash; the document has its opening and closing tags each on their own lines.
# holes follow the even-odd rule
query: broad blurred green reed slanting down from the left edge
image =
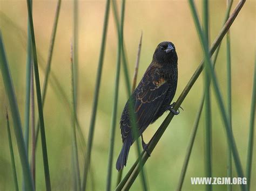
<svg viewBox="0 0 256 191">
<path fill-rule="evenodd" d="M 27 190 L 33 189 L 33 182 L 30 173 L 28 154 L 26 154 L 26 148 L 22 132 L 21 117 L 19 115 L 18 104 L 16 100 L 16 95 L 14 91 L 14 85 L 12 84 L 12 78 L 8 66 L 8 61 L 6 59 L 4 51 L 4 43 L 2 39 L 2 33 L 0 31 L 0 69 L 2 72 L 4 87 L 6 95 L 8 96 L 12 120 L 14 121 L 14 131 L 19 151 L 19 158 L 21 159 L 22 172 L 25 181 L 25 186 Z"/>
</svg>

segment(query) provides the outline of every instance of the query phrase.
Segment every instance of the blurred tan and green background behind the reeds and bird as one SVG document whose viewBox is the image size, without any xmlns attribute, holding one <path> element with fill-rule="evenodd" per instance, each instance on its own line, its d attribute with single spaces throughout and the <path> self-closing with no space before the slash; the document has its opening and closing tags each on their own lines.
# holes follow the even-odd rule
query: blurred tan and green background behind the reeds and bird
<svg viewBox="0 0 256 191">
<path fill-rule="evenodd" d="M 44 79 L 48 48 L 55 16 L 57 1 L 33 1 L 33 22 L 35 27 L 38 61 L 41 67 L 41 83 Z M 234 1 L 231 12 L 238 1 Z M 201 15 L 201 1 L 196 1 Z M 120 10 L 120 2 L 118 1 Z M 53 83 L 52 74 L 57 76 L 60 85 L 71 100 L 70 44 L 72 41 L 72 1 L 63 1 L 60 8 L 55 47 L 53 49 L 49 88 L 46 95 L 44 117 L 46 140 L 48 145 L 49 167 L 52 190 L 72 189 L 71 165 L 71 117 L 67 103 Z M 210 37 L 211 42 L 217 36 L 226 10 L 226 1 L 210 1 Z M 79 88 L 78 118 L 87 142 L 92 100 L 95 90 L 96 72 L 102 39 L 105 1 L 79 1 Z M 109 152 L 109 135 L 113 103 L 114 75 L 116 73 L 117 33 L 110 11 L 107 29 L 106 51 L 103 75 L 100 86 L 95 136 L 91 155 L 93 179 L 89 175 L 89 190 L 104 190 L 106 186 L 107 160 Z M 232 128 L 237 143 L 242 165 L 245 169 L 248 126 L 252 98 L 252 82 L 255 56 L 256 2 L 247 1 L 237 19 L 231 26 L 231 63 L 232 63 Z M 25 106 L 25 64 L 27 38 L 26 1 L 0 0 L 0 27 L 8 56 L 11 75 L 15 86 L 19 111 L 24 124 Z M 178 53 L 179 79 L 174 101 L 185 88 L 188 80 L 203 58 L 196 28 L 187 1 L 127 1 L 124 22 L 124 41 L 129 63 L 130 79 L 133 76 L 134 63 L 140 34 L 143 32 L 142 52 L 140 57 L 138 80 L 140 80 L 152 60 L 154 49 L 161 41 L 172 41 Z M 216 73 L 224 100 L 226 101 L 226 38 L 221 44 L 217 59 Z M 202 76 L 194 84 L 181 106 L 184 111 L 174 117 L 160 139 L 157 147 L 146 162 L 147 180 L 150 190 L 174 190 L 177 187 L 185 152 L 196 116 L 201 94 L 203 93 Z M 138 83 L 138 82 L 137 82 Z M 41 87 L 43 84 L 41 84 Z M 116 161 L 122 140 L 119 119 L 127 100 L 124 73 L 121 69 L 118 100 L 118 117 L 114 145 L 114 162 Z M 0 77 L 0 190 L 14 190 L 11 171 L 8 137 L 5 127 L 5 107 L 8 105 L 2 76 Z M 36 104 L 37 108 L 37 104 Z M 144 133 L 146 142 L 156 132 L 165 113 Z M 36 117 L 37 119 L 37 117 Z M 226 133 L 219 115 L 219 109 L 212 95 L 212 133 L 213 176 L 226 176 Z M 204 114 L 191 153 L 183 190 L 204 190 L 205 186 L 192 186 L 190 177 L 205 176 L 204 171 Z M 11 123 L 11 129 L 13 129 Z M 18 157 L 14 131 L 12 140 L 16 155 L 16 167 L 19 187 L 22 182 L 22 169 Z M 124 174 L 136 160 L 135 146 L 132 146 Z M 256 147 L 254 146 L 254 159 Z M 80 171 L 83 172 L 84 152 L 79 150 Z M 255 161 L 255 160 L 254 160 Z M 256 164 L 252 165 L 251 188 L 256 189 Z M 114 168 L 114 166 L 113 166 Z M 236 171 L 233 165 L 233 176 Z M 113 169 L 112 188 L 116 185 L 117 171 Z M 36 155 L 36 188 L 45 190 L 44 169 L 41 141 L 38 142 Z M 141 189 L 140 178 L 134 182 L 132 190 Z M 214 186 L 214 190 L 224 190 L 226 186 Z M 233 186 L 240 190 L 239 186 Z"/>
</svg>

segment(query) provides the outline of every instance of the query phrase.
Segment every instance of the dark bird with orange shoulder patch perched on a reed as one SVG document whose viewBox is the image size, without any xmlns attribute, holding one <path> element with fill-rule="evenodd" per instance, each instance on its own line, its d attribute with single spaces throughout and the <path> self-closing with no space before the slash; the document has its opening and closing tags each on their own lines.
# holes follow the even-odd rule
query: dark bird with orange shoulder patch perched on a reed
<svg viewBox="0 0 256 191">
<path fill-rule="evenodd" d="M 142 137 L 142 147 L 147 152 L 147 144 L 142 135 L 147 126 L 154 123 L 167 110 L 172 111 L 175 115 L 179 114 L 179 111 L 173 110 L 175 102 L 170 104 L 176 93 L 177 83 L 178 56 L 176 48 L 170 41 L 164 41 L 155 49 L 149 67 L 123 109 L 120 119 L 123 147 L 116 162 L 118 171 L 126 166 L 130 147 L 140 136 Z M 131 108 L 134 109 L 134 121 L 138 128 L 137 137 L 134 137 L 132 133 L 131 115 L 129 114 Z"/>
</svg>

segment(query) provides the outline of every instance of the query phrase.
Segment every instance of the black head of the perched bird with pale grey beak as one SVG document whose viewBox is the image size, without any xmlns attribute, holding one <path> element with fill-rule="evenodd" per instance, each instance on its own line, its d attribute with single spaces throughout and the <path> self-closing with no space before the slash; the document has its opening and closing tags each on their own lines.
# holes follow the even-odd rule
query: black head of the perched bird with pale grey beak
<svg viewBox="0 0 256 191">
<path fill-rule="evenodd" d="M 178 56 L 173 43 L 165 41 L 160 43 L 154 51 L 153 60 L 161 65 L 177 65 Z"/>
</svg>

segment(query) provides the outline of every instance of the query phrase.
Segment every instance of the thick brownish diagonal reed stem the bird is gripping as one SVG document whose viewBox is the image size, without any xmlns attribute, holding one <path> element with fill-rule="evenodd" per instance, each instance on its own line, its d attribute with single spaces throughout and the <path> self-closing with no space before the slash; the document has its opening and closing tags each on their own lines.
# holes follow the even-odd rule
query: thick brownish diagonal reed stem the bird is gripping
<svg viewBox="0 0 256 191">
<path fill-rule="evenodd" d="M 241 10 L 242 6 L 244 5 L 244 3 L 245 3 L 245 1 L 239 1 L 237 6 L 235 7 L 234 11 L 232 12 L 231 16 L 227 19 L 227 22 L 225 23 L 225 25 L 223 26 L 223 28 L 219 32 L 217 38 L 214 40 L 214 42 L 213 42 L 213 44 L 212 44 L 212 46 L 210 48 L 210 56 L 212 56 L 214 51 L 219 46 L 221 40 L 224 38 L 227 30 L 230 28 L 230 26 L 234 22 L 235 18 L 237 17 L 237 15 L 238 15 L 239 11 Z M 180 94 L 176 104 L 174 105 L 174 109 L 175 110 L 178 110 L 178 108 L 180 107 L 181 103 L 184 101 L 185 97 L 187 96 L 188 92 L 193 87 L 194 82 L 196 82 L 196 80 L 198 79 L 199 75 L 201 74 L 201 72 L 203 70 L 203 63 L 204 63 L 204 60 L 202 60 L 200 62 L 200 65 L 198 66 L 197 70 L 194 72 L 194 74 L 192 75 L 190 81 L 187 83 L 187 85 L 184 88 L 183 92 Z M 170 124 L 172 118 L 173 118 L 173 113 L 170 112 L 169 115 L 165 118 L 164 122 L 158 128 L 157 132 L 151 138 L 150 143 L 148 145 L 149 146 L 148 147 L 149 152 L 152 153 L 152 151 L 154 150 L 154 147 L 156 147 L 157 143 L 159 142 L 159 140 L 160 140 L 161 136 L 163 135 L 164 131 L 166 130 L 167 126 Z M 142 162 L 143 162 L 143 164 L 145 164 L 145 162 L 147 161 L 149 156 L 144 151 L 142 152 L 141 155 L 142 155 Z M 126 174 L 124 179 L 119 183 L 119 185 L 117 186 L 116 189 L 119 189 L 119 190 L 122 189 L 124 184 L 126 183 L 127 179 L 130 176 L 137 176 L 138 175 L 139 169 L 138 169 L 138 165 L 137 164 L 138 164 L 138 160 L 136 160 L 134 165 L 131 167 L 129 172 Z"/>
</svg>

